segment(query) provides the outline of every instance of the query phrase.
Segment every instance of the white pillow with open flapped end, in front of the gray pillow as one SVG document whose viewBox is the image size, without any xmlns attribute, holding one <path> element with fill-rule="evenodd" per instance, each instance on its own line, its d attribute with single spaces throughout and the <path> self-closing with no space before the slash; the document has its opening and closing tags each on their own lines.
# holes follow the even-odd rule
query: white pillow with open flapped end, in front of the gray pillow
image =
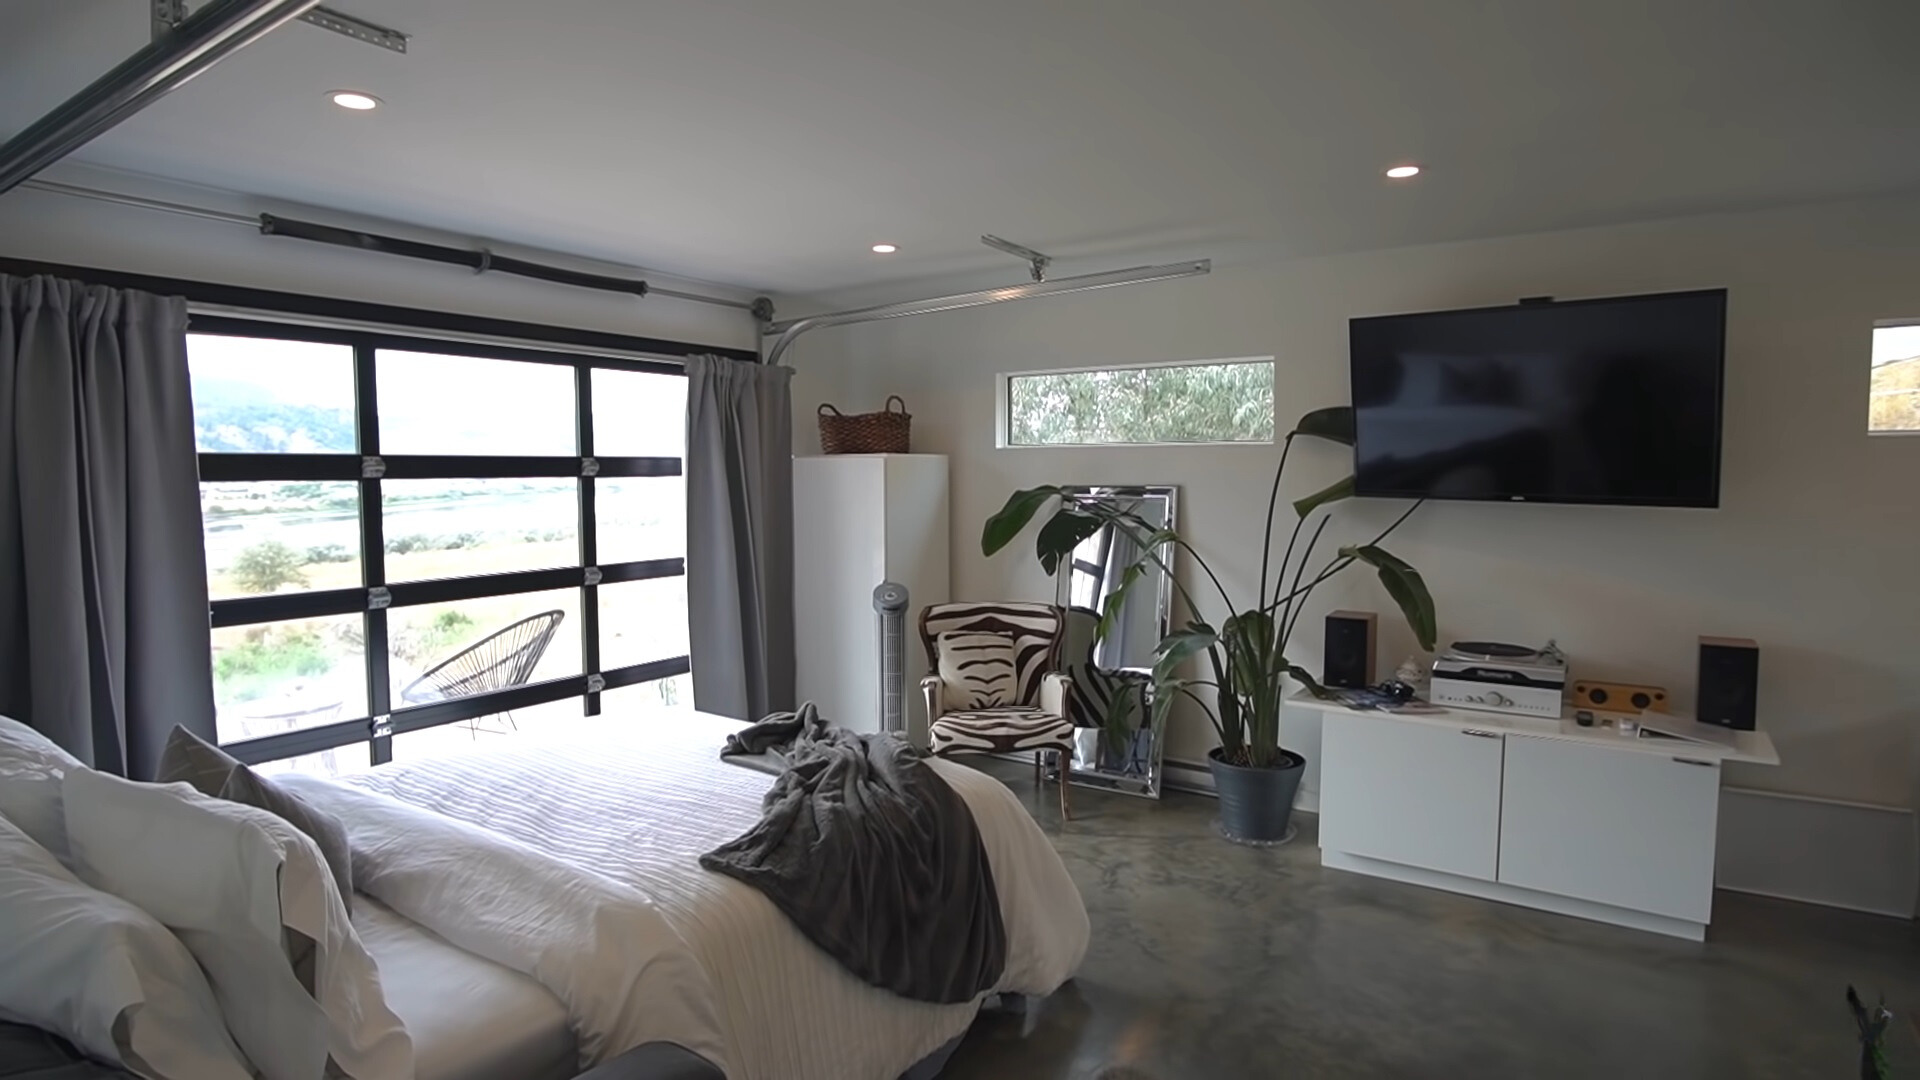
<svg viewBox="0 0 1920 1080">
<path fill-rule="evenodd" d="M 179 934 L 267 1080 L 413 1076 L 413 1042 L 313 840 L 190 784 L 75 771 L 63 786 L 75 871 Z"/>
</svg>

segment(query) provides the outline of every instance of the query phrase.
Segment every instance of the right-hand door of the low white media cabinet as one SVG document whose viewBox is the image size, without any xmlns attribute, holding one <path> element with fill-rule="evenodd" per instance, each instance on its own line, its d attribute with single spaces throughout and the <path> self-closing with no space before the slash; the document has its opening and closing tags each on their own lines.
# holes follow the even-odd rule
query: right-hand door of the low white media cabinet
<svg viewBox="0 0 1920 1080">
<path fill-rule="evenodd" d="M 1509 736 L 1500 880 L 1707 922 L 1720 767 Z"/>
</svg>

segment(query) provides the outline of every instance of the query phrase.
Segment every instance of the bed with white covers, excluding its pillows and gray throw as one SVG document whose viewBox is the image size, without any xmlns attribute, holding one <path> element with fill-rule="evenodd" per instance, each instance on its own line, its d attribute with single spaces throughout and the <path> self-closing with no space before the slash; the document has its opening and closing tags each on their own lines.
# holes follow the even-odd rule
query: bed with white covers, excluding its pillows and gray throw
<svg viewBox="0 0 1920 1080">
<path fill-rule="evenodd" d="M 758 821 L 772 782 L 718 759 L 739 726 L 597 717 L 561 738 L 286 778 L 348 824 L 372 897 L 355 926 L 415 1034 L 419 1080 L 559 1078 L 564 1053 L 593 1063 L 649 1042 L 733 1080 L 893 1080 L 952 1047 L 985 995 L 935 1005 L 872 988 L 762 894 L 699 869 Z M 1008 934 L 995 992 L 1050 994 L 1087 949 L 1079 892 L 1004 784 L 929 765 L 993 867 Z"/>
</svg>

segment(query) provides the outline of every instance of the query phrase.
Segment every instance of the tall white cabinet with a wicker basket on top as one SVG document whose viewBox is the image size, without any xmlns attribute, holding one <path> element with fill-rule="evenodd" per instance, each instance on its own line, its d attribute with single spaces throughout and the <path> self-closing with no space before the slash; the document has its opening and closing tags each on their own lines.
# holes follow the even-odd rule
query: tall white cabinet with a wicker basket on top
<svg viewBox="0 0 1920 1080">
<path fill-rule="evenodd" d="M 835 724 L 879 730 L 874 586 L 906 586 L 906 719 L 925 744 L 920 611 L 948 600 L 947 457 L 839 454 L 793 459 L 797 690 Z"/>
</svg>

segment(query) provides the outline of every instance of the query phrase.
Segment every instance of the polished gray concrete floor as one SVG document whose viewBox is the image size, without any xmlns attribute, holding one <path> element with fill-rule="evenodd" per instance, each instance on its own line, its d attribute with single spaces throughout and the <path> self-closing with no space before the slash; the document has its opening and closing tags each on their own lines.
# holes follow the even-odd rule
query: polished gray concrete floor
<svg viewBox="0 0 1920 1080">
<path fill-rule="evenodd" d="M 943 1080 L 1859 1076 L 1847 984 L 1920 1076 L 1914 922 L 1722 892 L 1707 944 L 1325 871 L 1213 836 L 1213 801 L 1033 794 L 1087 899 L 1079 978 L 983 1015 Z"/>
</svg>

